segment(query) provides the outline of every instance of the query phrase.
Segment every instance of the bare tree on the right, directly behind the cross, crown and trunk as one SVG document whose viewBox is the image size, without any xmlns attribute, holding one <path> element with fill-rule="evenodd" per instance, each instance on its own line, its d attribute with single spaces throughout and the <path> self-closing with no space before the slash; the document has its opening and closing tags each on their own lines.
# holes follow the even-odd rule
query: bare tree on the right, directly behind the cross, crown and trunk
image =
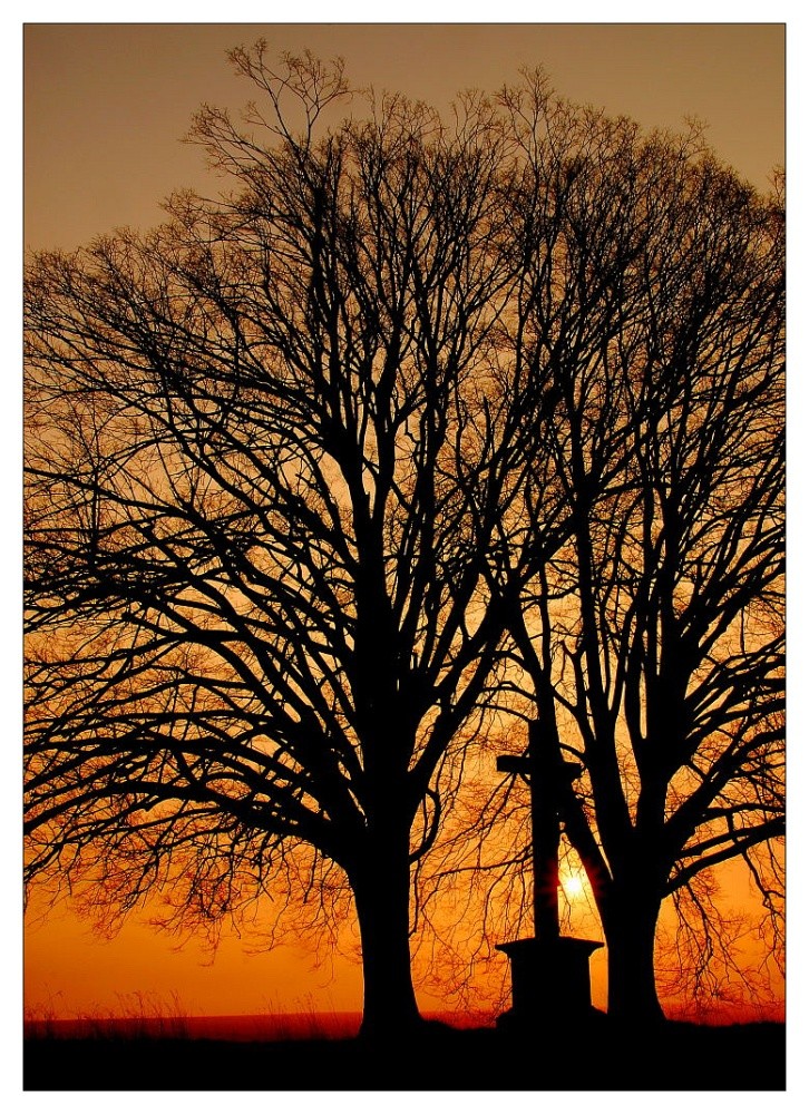
<svg viewBox="0 0 809 1114">
<path fill-rule="evenodd" d="M 655 1017 L 666 898 L 710 965 L 711 868 L 743 859 L 776 918 L 783 896 L 783 213 L 696 131 L 643 138 L 539 86 L 508 104 L 542 182 L 519 205 L 542 276 L 520 325 L 553 409 L 524 511 L 538 568 L 506 548 L 491 586 L 528 745 L 584 770 L 561 815 L 610 1013 Z"/>
</svg>

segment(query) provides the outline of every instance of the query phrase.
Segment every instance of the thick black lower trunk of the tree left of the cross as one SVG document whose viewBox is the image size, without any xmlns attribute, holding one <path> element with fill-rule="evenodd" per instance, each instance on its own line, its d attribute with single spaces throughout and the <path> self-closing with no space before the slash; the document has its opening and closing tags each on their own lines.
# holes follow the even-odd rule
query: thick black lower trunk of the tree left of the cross
<svg viewBox="0 0 809 1114">
<path fill-rule="evenodd" d="M 407 843 L 369 848 L 350 873 L 362 942 L 363 1036 L 396 1037 L 421 1023 L 410 973 L 410 864 Z"/>
</svg>

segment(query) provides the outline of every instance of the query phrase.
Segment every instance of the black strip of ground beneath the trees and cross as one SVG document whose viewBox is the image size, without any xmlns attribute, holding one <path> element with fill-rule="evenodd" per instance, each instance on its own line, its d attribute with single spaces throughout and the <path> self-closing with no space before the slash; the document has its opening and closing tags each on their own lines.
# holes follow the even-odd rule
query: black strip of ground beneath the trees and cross
<svg viewBox="0 0 809 1114">
<path fill-rule="evenodd" d="M 431 1025 L 405 1042 L 28 1038 L 26 1091 L 783 1091 L 786 1028 L 667 1022 L 530 1038 Z"/>
</svg>

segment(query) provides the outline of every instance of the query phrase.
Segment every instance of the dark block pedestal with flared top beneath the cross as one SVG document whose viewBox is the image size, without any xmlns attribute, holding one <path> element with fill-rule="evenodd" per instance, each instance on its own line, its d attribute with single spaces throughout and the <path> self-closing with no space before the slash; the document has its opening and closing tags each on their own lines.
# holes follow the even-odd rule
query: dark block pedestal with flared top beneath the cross
<svg viewBox="0 0 809 1114">
<path fill-rule="evenodd" d="M 498 1027 L 588 1017 L 593 1012 L 589 957 L 602 947 L 597 940 L 573 936 L 498 944 L 497 950 L 505 951 L 511 964 L 511 1008 L 497 1018 Z"/>
</svg>

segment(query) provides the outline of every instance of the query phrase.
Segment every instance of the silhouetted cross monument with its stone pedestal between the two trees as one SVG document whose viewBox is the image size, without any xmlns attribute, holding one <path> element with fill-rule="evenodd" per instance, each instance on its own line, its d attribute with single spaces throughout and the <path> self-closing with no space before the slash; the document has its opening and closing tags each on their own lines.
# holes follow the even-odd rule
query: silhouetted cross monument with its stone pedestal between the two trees
<svg viewBox="0 0 809 1114">
<path fill-rule="evenodd" d="M 530 788 L 534 859 L 534 937 L 498 944 L 511 964 L 511 1008 L 498 1026 L 527 1028 L 540 1018 L 583 1018 L 591 1014 L 589 957 L 603 947 L 559 932 L 559 789 L 582 773 L 563 761 L 558 746 L 543 745 L 542 727 L 532 723 L 528 751 L 503 754 L 497 769 L 520 774 Z M 563 780 L 564 779 L 564 780 Z"/>
</svg>

